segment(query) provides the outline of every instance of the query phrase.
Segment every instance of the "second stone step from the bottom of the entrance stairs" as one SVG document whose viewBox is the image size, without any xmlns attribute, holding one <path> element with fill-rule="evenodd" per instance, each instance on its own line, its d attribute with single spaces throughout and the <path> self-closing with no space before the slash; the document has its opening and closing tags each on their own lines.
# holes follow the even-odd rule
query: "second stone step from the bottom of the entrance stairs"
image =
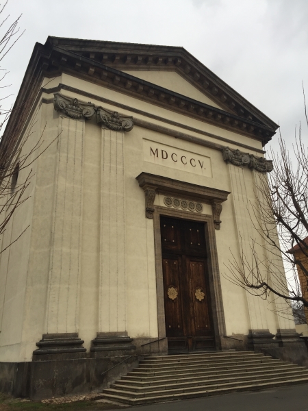
<svg viewBox="0 0 308 411">
<path fill-rule="evenodd" d="M 196 387 L 196 386 L 204 386 L 206 384 L 219 384 L 220 386 L 225 383 L 231 383 L 231 382 L 252 382 L 255 381 L 255 379 L 260 379 L 264 377 L 264 375 L 236 375 L 236 376 L 228 376 L 224 375 L 224 377 L 211 377 L 211 378 L 206 378 L 202 377 L 199 378 L 198 380 L 190 379 L 190 381 L 175 381 L 175 382 L 170 382 L 167 381 L 164 383 L 163 381 L 157 384 L 146 384 L 144 386 L 138 386 L 136 384 L 121 384 L 120 381 L 116 382 L 115 384 L 112 384 L 111 388 L 114 388 L 116 390 L 126 390 L 126 391 L 133 391 L 135 393 L 149 393 L 150 391 L 159 391 L 159 390 L 176 390 L 179 388 L 188 388 L 188 387 Z M 267 378 L 274 379 L 274 378 L 283 378 L 283 379 L 292 379 L 294 378 L 299 378 L 299 377 L 308 377 L 308 370 L 300 370 L 300 371 L 289 371 L 283 373 L 283 376 L 281 376 L 281 373 L 274 373 L 270 375 L 266 375 Z"/>
</svg>

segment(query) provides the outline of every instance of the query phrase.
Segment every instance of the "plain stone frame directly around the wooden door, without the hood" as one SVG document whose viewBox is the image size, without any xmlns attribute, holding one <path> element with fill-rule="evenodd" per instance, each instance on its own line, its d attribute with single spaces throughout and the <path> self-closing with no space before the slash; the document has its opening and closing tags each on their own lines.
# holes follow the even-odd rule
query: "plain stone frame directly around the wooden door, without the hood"
<svg viewBox="0 0 308 411">
<path fill-rule="evenodd" d="M 158 338 L 160 339 L 166 337 L 160 216 L 173 217 L 176 219 L 184 219 L 205 223 L 207 270 L 209 273 L 209 294 L 211 296 L 211 312 L 214 323 L 214 338 L 216 342 L 216 349 L 221 349 L 220 339 L 221 336 L 226 335 L 226 326 L 224 321 L 224 309 L 222 303 L 222 291 L 220 284 L 220 273 L 218 267 L 218 255 L 216 249 L 213 216 L 207 214 L 194 214 L 191 212 L 170 209 L 162 206 L 154 206 L 153 212 Z M 166 351 L 168 350 L 167 347 L 167 340 L 162 340 L 159 344 L 159 351 L 166 353 Z"/>
</svg>

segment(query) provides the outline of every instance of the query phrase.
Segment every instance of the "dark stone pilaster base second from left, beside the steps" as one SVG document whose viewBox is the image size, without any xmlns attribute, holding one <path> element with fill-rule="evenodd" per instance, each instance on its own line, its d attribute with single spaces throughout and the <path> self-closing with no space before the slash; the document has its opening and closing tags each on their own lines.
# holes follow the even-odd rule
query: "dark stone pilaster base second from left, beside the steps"
<svg viewBox="0 0 308 411">
<path fill-rule="evenodd" d="M 98 332 L 97 338 L 91 341 L 91 357 L 133 356 L 136 347 L 132 345 L 133 338 L 127 332 Z"/>
</svg>

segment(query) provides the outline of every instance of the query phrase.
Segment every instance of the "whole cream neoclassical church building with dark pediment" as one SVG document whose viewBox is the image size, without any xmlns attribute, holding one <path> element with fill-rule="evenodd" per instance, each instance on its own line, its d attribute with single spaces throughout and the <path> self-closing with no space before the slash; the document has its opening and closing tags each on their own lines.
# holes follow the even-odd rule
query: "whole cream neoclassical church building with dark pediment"
<svg viewBox="0 0 308 411">
<path fill-rule="evenodd" d="M 0 254 L 2 390 L 90 393 L 147 354 L 297 361 L 282 301 L 227 278 L 257 236 L 277 124 L 182 47 L 56 37 L 34 47 L 15 109 L 0 149 L 14 142 L 17 167 L 38 149 L 0 238 L 25 230 Z"/>
</svg>

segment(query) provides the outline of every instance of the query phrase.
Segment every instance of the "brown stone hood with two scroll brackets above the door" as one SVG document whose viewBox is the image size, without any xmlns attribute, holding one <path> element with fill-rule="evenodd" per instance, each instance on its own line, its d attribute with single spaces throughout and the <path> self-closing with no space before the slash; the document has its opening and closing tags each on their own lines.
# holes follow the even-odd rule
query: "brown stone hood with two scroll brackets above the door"
<svg viewBox="0 0 308 411">
<path fill-rule="evenodd" d="M 220 229 L 221 203 L 227 200 L 230 194 L 229 191 L 198 186 L 197 184 L 181 182 L 180 180 L 149 173 L 141 173 L 136 179 L 139 186 L 144 190 L 147 219 L 153 219 L 153 212 L 155 211 L 153 204 L 156 194 L 172 195 L 211 204 L 215 228 Z"/>
</svg>

